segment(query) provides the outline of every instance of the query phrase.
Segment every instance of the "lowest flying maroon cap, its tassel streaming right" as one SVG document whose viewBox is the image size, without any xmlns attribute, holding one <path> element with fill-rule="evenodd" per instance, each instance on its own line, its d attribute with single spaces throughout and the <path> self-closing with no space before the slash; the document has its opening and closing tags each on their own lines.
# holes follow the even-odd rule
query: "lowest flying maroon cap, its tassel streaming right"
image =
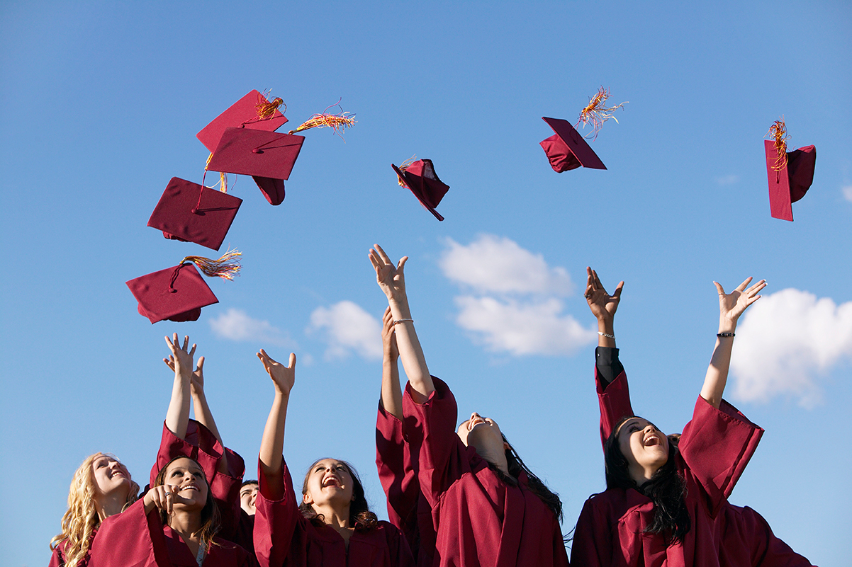
<svg viewBox="0 0 852 567">
<path fill-rule="evenodd" d="M 205 276 L 233 279 L 239 273 L 239 255 L 239 251 L 229 250 L 218 260 L 187 256 L 177 266 L 131 279 L 127 287 L 139 303 L 136 310 L 152 324 L 166 319 L 197 321 L 202 307 L 219 300 L 196 266 Z"/>
</svg>

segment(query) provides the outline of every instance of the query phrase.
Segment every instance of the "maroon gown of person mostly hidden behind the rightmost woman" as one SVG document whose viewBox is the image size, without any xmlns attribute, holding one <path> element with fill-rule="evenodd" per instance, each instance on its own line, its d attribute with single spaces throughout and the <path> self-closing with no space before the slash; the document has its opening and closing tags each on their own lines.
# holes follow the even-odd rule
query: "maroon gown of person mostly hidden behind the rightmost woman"
<svg viewBox="0 0 852 567">
<path fill-rule="evenodd" d="M 595 366 L 595 385 L 601 407 L 601 439 L 606 441 L 622 417 L 632 416 L 627 375 L 622 371 L 607 384 Z M 741 472 L 741 471 L 740 471 Z M 728 495 L 730 493 L 728 492 Z M 808 567 L 807 558 L 794 552 L 759 513 L 750 507 L 734 506 L 727 497 L 717 517 L 718 561 L 725 567 Z M 573 557 L 573 553 L 572 553 Z"/>
</svg>

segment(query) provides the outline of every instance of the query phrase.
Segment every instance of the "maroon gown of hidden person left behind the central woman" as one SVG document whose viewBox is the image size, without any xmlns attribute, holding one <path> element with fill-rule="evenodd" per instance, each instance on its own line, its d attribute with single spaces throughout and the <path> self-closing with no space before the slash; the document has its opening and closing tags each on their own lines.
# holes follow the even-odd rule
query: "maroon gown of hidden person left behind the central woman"
<svg viewBox="0 0 852 567">
<path fill-rule="evenodd" d="M 400 528 L 420 567 L 429 567 L 435 554 L 432 510 L 420 492 L 411 447 L 403 424 L 379 404 L 376 419 L 376 467 L 388 499 L 388 518 Z"/>
</svg>

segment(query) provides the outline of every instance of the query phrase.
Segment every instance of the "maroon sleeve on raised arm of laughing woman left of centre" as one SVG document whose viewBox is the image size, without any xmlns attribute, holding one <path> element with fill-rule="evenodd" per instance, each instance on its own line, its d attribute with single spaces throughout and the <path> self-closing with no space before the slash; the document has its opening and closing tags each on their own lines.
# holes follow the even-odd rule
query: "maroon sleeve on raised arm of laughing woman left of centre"
<svg viewBox="0 0 852 567">
<path fill-rule="evenodd" d="M 253 530 L 255 555 L 261 567 L 281 567 L 290 553 L 297 526 L 304 521 L 296 504 L 290 470 L 281 458 L 281 475 L 284 480 L 284 496 L 270 500 L 266 477 L 258 470 L 257 483 L 260 490 L 255 501 L 255 526 Z M 260 463 L 258 463 L 258 469 Z M 294 563 L 297 564 L 297 563 Z"/>
</svg>

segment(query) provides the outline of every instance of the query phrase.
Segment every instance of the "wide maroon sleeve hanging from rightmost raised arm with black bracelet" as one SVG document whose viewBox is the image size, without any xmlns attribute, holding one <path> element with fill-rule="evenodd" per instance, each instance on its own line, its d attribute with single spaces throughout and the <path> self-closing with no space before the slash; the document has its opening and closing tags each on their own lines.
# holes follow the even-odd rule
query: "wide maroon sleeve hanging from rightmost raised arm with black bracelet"
<svg viewBox="0 0 852 567">
<path fill-rule="evenodd" d="M 699 396 L 678 443 L 683 461 L 708 495 L 711 513 L 734 490 L 763 435 L 763 428 L 722 400 L 719 409 Z"/>
</svg>

